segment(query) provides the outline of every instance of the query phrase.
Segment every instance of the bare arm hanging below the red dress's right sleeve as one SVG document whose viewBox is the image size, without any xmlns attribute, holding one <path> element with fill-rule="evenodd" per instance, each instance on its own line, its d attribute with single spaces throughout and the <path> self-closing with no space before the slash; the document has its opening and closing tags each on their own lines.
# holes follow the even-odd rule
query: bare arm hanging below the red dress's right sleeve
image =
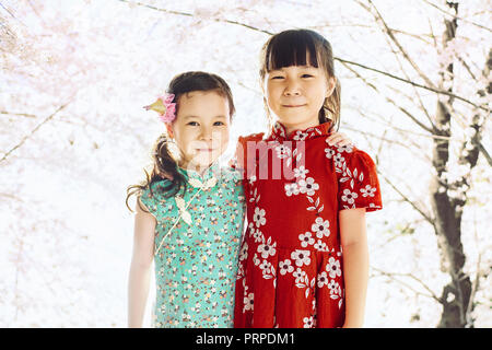
<svg viewBox="0 0 492 350">
<path fill-rule="evenodd" d="M 368 280 L 365 209 L 341 210 L 339 221 L 345 283 L 345 323 L 343 327 L 359 328 L 364 323 Z"/>
</svg>

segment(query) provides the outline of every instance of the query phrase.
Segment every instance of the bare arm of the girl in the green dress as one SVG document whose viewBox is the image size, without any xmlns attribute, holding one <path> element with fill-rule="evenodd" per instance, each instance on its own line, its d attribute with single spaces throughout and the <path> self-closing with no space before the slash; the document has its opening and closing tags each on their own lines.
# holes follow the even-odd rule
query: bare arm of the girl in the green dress
<svg viewBox="0 0 492 350">
<path fill-rule="evenodd" d="M 139 198 L 140 200 L 140 198 Z M 128 327 L 142 327 L 152 259 L 154 256 L 154 232 L 156 220 L 151 213 L 136 206 L 133 255 L 128 281 Z"/>
</svg>

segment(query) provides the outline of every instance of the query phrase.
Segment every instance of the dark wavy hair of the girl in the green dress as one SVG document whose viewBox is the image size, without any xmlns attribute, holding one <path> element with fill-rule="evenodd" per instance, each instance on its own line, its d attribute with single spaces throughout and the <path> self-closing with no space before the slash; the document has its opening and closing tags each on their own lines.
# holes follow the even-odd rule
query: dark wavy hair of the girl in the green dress
<svg viewBox="0 0 492 350">
<path fill-rule="evenodd" d="M 169 82 L 169 86 L 166 92 L 174 94 L 173 102 L 176 103 L 176 115 L 179 112 L 179 97 L 194 91 L 215 91 L 221 96 L 226 97 L 229 102 L 230 118 L 232 119 L 235 113 L 235 107 L 231 88 L 221 77 L 200 71 L 178 74 Z M 169 179 L 167 186 L 163 187 L 165 197 L 175 196 L 180 189 L 184 191 L 186 190 L 185 176 L 178 172 L 178 164 L 173 154 L 169 152 L 169 137 L 167 136 L 167 132 L 164 131 L 154 142 L 152 148 L 153 168 L 151 174 L 149 174 L 147 170 L 143 170 L 145 173 L 145 179 L 138 185 L 131 185 L 127 188 L 126 205 L 130 211 L 132 210 L 128 206 L 129 198 L 132 195 L 140 196 L 147 188 L 149 188 L 152 192 L 151 185 L 163 179 L 164 177 Z M 138 203 L 140 206 L 139 201 Z M 143 208 L 141 209 L 144 210 Z"/>
</svg>

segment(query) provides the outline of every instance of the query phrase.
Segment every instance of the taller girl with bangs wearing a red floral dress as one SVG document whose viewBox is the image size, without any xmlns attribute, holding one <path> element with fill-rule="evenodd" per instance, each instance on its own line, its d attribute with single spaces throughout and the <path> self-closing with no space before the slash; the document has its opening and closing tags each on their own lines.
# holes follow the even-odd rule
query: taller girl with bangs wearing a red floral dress
<svg viewBox="0 0 492 350">
<path fill-rule="evenodd" d="M 247 230 L 235 327 L 361 327 L 368 279 L 365 212 L 382 209 L 373 160 L 328 137 L 340 84 L 330 44 L 306 30 L 261 54 L 270 132 L 239 138 Z"/>
</svg>

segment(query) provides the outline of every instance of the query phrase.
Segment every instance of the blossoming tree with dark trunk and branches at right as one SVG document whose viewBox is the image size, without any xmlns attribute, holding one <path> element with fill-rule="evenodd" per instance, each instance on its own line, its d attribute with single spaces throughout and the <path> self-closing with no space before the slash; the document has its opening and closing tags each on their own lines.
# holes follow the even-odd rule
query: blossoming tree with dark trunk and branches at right
<svg viewBox="0 0 492 350">
<path fill-rule="evenodd" d="M 410 118 L 433 139 L 430 159 L 430 165 L 432 165 L 430 168 L 433 174 L 429 186 L 430 206 L 422 207 L 406 195 L 401 194 L 401 196 L 432 226 L 441 253 L 441 268 L 449 275 L 450 280 L 444 285 L 441 296 L 433 293 L 434 299 L 443 307 L 438 326 L 471 327 L 473 326 L 471 312 L 475 305 L 475 293 L 480 279 L 485 278 L 487 275 L 483 276 L 479 269 L 472 282 L 469 272 L 464 269 L 467 257 L 461 241 L 464 230 L 461 218 L 469 202 L 469 189 L 472 186 L 471 171 L 478 164 L 479 154 L 483 155 L 484 162 L 492 165 L 489 152 L 481 143 L 483 133 L 487 132 L 485 122 L 490 116 L 492 48 L 485 47 L 484 57 L 479 59 L 483 65 L 482 69 L 472 69 L 470 65 L 477 67 L 477 62 L 471 63 L 468 60 L 472 57 L 465 55 L 468 55 L 475 45 L 480 46 L 481 43 L 477 43 L 472 37 L 462 37 L 458 23 L 475 26 L 479 32 L 490 33 L 491 30 L 461 16 L 458 11 L 460 7 L 458 1 L 444 1 L 442 4 L 424 2 L 442 13 L 444 24 L 442 35 L 433 32 L 429 35 L 432 39 L 429 49 L 437 52 L 438 74 L 434 77 L 425 70 L 424 57 L 415 58 L 415 55 L 400 43 L 398 38 L 400 34 L 388 26 L 373 1 L 370 0 L 368 3 L 359 1 L 361 7 L 374 16 L 375 25 L 385 34 L 401 67 L 407 63 L 408 68 L 402 71 L 408 82 L 435 93 L 436 108 L 435 112 L 430 112 L 422 102 L 420 91 L 414 90 L 415 104 L 420 105 L 419 114 L 400 107 L 394 97 L 387 98 L 401 110 L 402 116 Z M 479 9 L 468 8 L 466 11 L 470 10 Z M 457 66 L 465 70 L 465 74 L 457 70 Z M 409 70 L 415 73 L 414 80 L 408 78 Z M 414 81 L 418 81 L 418 84 Z M 470 86 L 475 86 L 476 90 L 473 91 Z M 467 91 L 464 88 L 470 90 Z M 458 103 L 461 105 L 457 106 Z M 459 135 L 460 137 L 457 137 Z M 453 150 L 453 143 L 460 143 L 460 145 Z"/>
</svg>

